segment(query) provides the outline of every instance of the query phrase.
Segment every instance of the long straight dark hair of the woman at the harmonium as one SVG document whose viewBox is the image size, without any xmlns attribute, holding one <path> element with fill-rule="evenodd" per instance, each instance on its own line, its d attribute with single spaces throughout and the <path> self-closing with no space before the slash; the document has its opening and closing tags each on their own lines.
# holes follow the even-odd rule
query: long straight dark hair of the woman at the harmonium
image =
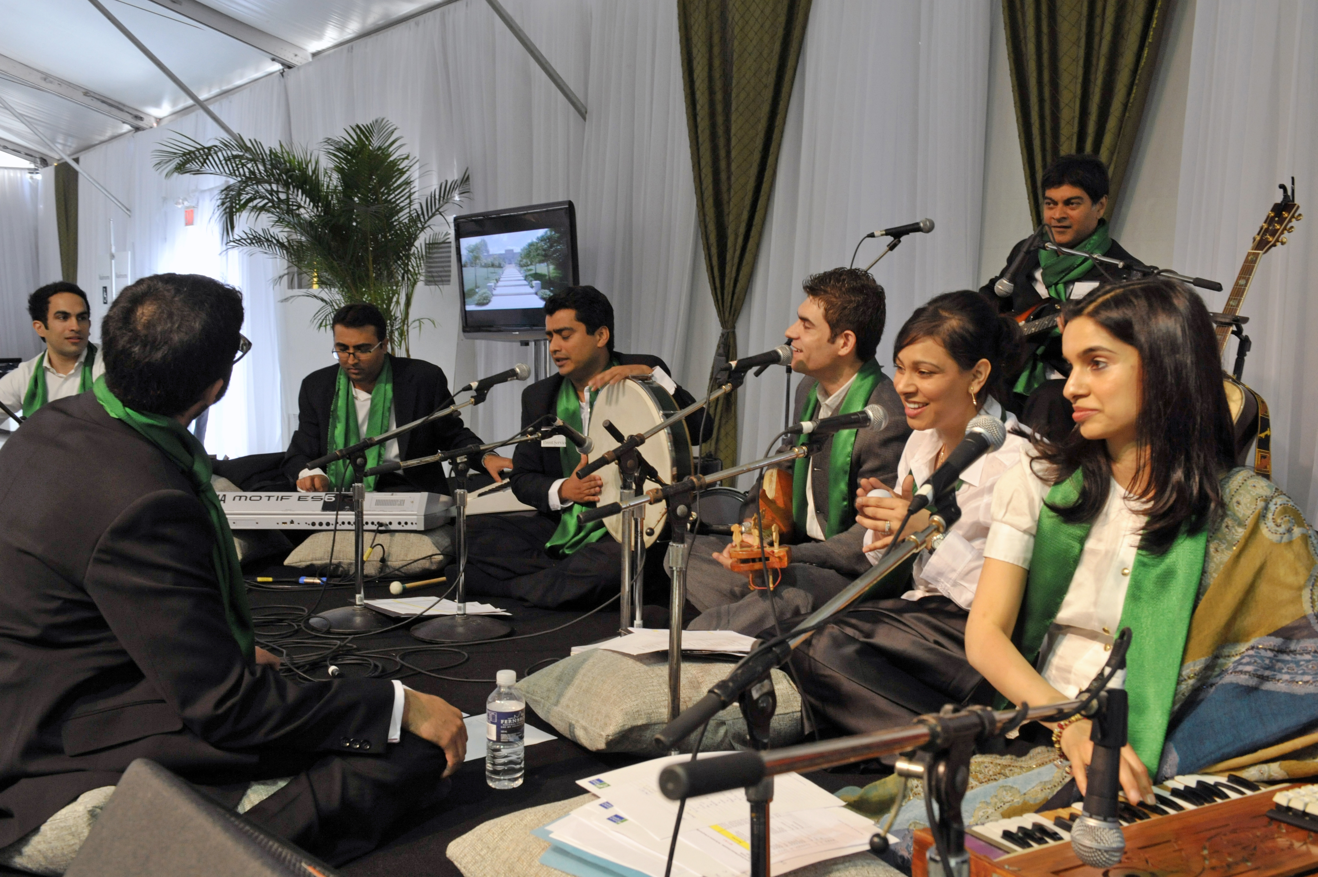
<svg viewBox="0 0 1318 877">
<path fill-rule="evenodd" d="M 1068 320 L 1089 317 L 1140 355 L 1140 405 L 1135 429 L 1148 448 L 1135 484 L 1147 505 L 1140 546 L 1161 554 L 1182 528 L 1210 526 L 1222 508 L 1220 477 L 1235 462 L 1235 443 L 1217 335 L 1203 299 L 1181 284 L 1144 277 L 1104 286 L 1064 307 Z M 1107 502 L 1112 466 L 1107 444 L 1079 427 L 1062 442 L 1035 439 L 1041 460 L 1062 481 L 1083 471 L 1079 499 L 1054 508 L 1064 521 L 1089 522 Z M 1145 460 L 1147 459 L 1147 464 Z M 1147 471 L 1145 471 L 1147 466 Z"/>
</svg>

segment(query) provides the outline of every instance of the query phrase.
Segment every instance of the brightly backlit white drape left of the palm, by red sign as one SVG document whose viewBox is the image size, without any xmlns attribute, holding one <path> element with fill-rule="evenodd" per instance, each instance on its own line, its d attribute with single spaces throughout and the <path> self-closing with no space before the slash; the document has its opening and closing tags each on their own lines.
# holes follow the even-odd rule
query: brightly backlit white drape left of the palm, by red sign
<svg viewBox="0 0 1318 877">
<path fill-rule="evenodd" d="M 289 137 L 287 99 L 281 76 L 261 79 L 212 107 L 245 137 L 265 142 Z M 79 285 L 92 295 L 92 313 L 99 324 L 105 306 L 95 299 L 105 282 L 100 274 L 108 265 L 113 220 L 116 251 L 132 252 L 132 280 L 177 272 L 207 274 L 240 289 L 245 309 L 243 332 L 252 339 L 252 352 L 233 369 L 225 397 L 211 410 L 206 447 L 221 458 L 282 451 L 290 430 L 287 418 L 281 415 L 285 406 L 278 377 L 283 332 L 278 299 L 286 293 L 275 286 L 275 278 L 283 266 L 265 256 L 224 252 L 215 214 L 221 179 L 166 179 L 154 169 L 154 150 L 177 135 L 212 141 L 223 132 L 208 116 L 194 111 L 159 128 L 120 137 L 82 157 L 82 166 L 128 203 L 133 216 L 128 219 L 86 179 L 80 181 Z M 175 204 L 179 199 L 195 207 L 192 226 L 183 224 L 185 208 Z M 328 364 L 328 353 L 324 361 Z"/>
</svg>

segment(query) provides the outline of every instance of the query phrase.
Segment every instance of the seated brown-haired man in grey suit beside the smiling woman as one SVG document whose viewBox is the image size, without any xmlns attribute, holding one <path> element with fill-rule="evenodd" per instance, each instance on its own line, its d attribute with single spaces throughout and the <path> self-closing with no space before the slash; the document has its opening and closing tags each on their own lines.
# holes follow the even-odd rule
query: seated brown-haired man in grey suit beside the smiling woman
<svg viewBox="0 0 1318 877">
<path fill-rule="evenodd" d="M 786 467 L 792 472 L 796 533 L 792 563 L 772 599 L 764 591 L 751 592 L 746 575 L 729 568 L 726 537 L 696 538 L 687 597 L 704 615 L 691 622 L 693 630 L 754 636 L 772 626 L 775 612 L 778 619 L 811 612 L 870 568 L 861 551 L 866 530 L 855 522 L 855 489 L 862 477 L 892 484 L 911 435 L 902 400 L 874 357 L 887 317 L 883 287 L 854 268 L 813 274 L 803 287 L 805 301 L 787 330 L 792 371 L 805 375 L 796 388 L 793 419 L 850 414 L 875 404 L 888 413 L 888 422 L 882 430 L 830 435 L 808 462 Z M 788 448 L 788 443 L 779 447 Z M 751 499 L 758 495 L 757 485 Z M 749 508 L 754 516 L 754 505 Z"/>
</svg>

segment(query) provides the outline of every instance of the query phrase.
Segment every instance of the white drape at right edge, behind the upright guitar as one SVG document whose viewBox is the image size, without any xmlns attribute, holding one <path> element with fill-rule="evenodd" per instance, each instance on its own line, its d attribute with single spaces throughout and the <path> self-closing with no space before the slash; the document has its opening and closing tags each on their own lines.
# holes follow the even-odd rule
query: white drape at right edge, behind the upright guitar
<svg viewBox="0 0 1318 877">
<path fill-rule="evenodd" d="M 1273 480 L 1309 520 L 1318 514 L 1314 45 L 1318 4 L 1198 1 L 1176 219 L 1176 269 L 1230 286 L 1281 194 L 1277 183 L 1296 178 L 1309 219 L 1260 261 L 1243 309 L 1253 342 L 1244 380 L 1272 410 Z M 1206 293 L 1205 301 L 1219 310 L 1226 293 Z M 1234 349 L 1231 342 L 1228 364 Z"/>
</svg>

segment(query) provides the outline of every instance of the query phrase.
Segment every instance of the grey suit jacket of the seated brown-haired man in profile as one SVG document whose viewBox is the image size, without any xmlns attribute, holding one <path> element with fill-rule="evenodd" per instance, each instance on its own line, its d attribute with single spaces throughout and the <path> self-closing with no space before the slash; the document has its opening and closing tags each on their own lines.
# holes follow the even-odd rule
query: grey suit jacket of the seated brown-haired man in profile
<svg viewBox="0 0 1318 877">
<path fill-rule="evenodd" d="M 801 419 L 801 411 L 805 410 L 805 400 L 815 384 L 815 378 L 807 377 L 796 388 L 796 405 L 792 414 L 795 419 Z M 851 448 L 851 475 L 847 479 L 847 509 L 842 516 L 846 529 L 822 542 L 811 539 L 804 533 L 797 533 L 797 545 L 792 547 L 793 563 L 812 563 L 837 570 L 853 578 L 870 568 L 870 563 L 861 550 L 861 546 L 865 543 L 865 528 L 855 522 L 855 485 L 862 477 L 876 477 L 888 487 L 892 487 L 892 483 L 896 480 L 898 460 L 902 459 L 902 451 L 905 448 L 905 440 L 911 435 L 911 427 L 907 426 L 905 414 L 902 409 L 902 398 L 898 396 L 896 389 L 894 389 L 890 377 L 884 376 L 879 381 L 874 392 L 870 393 L 866 404 L 883 406 L 883 410 L 888 413 L 888 423 L 882 430 L 855 431 L 855 446 Z M 795 444 L 795 442 L 784 442 L 778 450 L 786 451 L 791 444 Z M 811 488 L 815 495 L 815 517 L 822 533 L 828 533 L 829 460 L 832 456 L 833 437 L 830 435 L 824 442 L 822 450 L 811 458 L 811 469 L 813 472 Z M 750 497 L 754 499 L 758 495 L 758 489 L 753 489 Z"/>
</svg>

